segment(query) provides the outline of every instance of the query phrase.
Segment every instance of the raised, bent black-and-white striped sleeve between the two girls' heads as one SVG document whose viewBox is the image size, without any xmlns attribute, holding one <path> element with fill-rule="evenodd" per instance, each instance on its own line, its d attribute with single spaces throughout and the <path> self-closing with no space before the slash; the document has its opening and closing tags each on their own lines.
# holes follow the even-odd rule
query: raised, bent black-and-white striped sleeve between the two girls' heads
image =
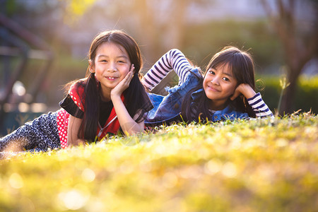
<svg viewBox="0 0 318 212">
<path fill-rule="evenodd" d="M 174 70 L 179 76 L 179 85 L 184 83 L 188 70 L 193 69 L 187 58 L 179 49 L 171 49 L 165 53 L 143 76 L 141 83 L 152 90 L 167 74 Z"/>
</svg>

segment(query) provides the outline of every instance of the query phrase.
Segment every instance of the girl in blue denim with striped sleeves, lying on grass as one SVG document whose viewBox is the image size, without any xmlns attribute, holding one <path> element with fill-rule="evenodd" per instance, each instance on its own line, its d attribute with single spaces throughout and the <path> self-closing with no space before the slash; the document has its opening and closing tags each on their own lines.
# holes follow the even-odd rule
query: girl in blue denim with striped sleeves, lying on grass
<svg viewBox="0 0 318 212">
<path fill-rule="evenodd" d="M 141 83 L 151 91 L 172 70 L 179 76 L 178 86 L 167 89 L 166 96 L 149 93 L 154 108 L 145 124 L 273 117 L 260 93 L 254 91 L 254 62 L 247 52 L 225 47 L 212 57 L 203 75 L 182 52 L 171 49 Z"/>
</svg>

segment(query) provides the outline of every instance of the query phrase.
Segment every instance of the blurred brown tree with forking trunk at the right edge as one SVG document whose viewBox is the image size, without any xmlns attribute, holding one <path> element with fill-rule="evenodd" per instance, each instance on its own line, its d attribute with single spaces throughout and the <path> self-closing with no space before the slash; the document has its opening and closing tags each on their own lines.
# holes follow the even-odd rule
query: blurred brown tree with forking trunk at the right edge
<svg viewBox="0 0 318 212">
<path fill-rule="evenodd" d="M 278 110 L 290 113 L 293 112 L 298 77 L 305 64 L 313 57 L 317 57 L 318 1 L 307 1 L 307 4 L 312 7 L 314 16 L 306 20 L 299 17 L 300 14 L 297 11 L 300 1 L 276 0 L 274 6 L 266 0 L 262 0 L 261 3 L 283 47 L 287 79 L 290 83 L 283 95 L 281 108 Z"/>
</svg>

